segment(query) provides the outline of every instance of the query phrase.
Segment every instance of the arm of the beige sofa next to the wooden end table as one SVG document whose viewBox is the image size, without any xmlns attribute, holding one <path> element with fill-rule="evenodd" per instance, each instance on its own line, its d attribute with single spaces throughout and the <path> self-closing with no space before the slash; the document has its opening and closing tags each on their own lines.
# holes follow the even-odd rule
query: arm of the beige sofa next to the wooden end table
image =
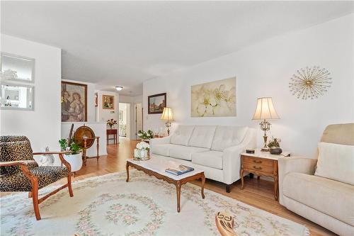
<svg viewBox="0 0 354 236">
<path fill-rule="evenodd" d="M 306 157 L 280 157 L 278 159 L 278 175 L 279 175 L 279 203 L 283 205 L 282 182 L 285 176 L 291 172 L 314 174 L 317 159 L 309 159 Z"/>
</svg>

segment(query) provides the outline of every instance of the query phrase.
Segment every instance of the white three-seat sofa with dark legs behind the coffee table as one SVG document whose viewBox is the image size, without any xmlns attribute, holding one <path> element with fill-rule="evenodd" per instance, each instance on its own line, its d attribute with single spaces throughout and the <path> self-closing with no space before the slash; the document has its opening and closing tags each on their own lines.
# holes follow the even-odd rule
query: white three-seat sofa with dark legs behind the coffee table
<svg viewBox="0 0 354 236">
<path fill-rule="evenodd" d="M 205 177 L 230 185 L 240 179 L 240 154 L 256 147 L 256 130 L 239 126 L 178 125 L 169 137 L 150 140 L 153 157 L 203 169 Z"/>
</svg>

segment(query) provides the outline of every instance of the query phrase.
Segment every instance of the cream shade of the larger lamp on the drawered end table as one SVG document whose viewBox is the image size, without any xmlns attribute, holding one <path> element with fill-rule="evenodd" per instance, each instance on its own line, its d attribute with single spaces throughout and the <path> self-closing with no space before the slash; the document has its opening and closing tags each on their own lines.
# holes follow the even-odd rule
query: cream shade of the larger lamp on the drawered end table
<svg viewBox="0 0 354 236">
<path fill-rule="evenodd" d="M 252 120 L 264 119 L 279 119 L 279 116 L 273 106 L 272 98 L 257 99 L 257 108 Z"/>
</svg>

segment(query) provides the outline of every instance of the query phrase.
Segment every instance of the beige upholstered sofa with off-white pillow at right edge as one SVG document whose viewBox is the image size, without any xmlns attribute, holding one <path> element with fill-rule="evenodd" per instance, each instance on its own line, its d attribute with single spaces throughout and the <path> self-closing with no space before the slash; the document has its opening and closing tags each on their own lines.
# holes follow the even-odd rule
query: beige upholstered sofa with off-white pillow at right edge
<svg viewBox="0 0 354 236">
<path fill-rule="evenodd" d="M 330 145 L 331 152 L 324 152 L 323 144 Z M 343 152 L 343 147 L 351 149 L 349 154 Z M 319 144 L 319 161 L 304 157 L 278 159 L 280 204 L 338 235 L 353 236 L 353 159 L 354 123 L 327 126 Z M 324 165 L 329 167 L 326 172 Z M 349 181 L 340 181 L 336 176 Z"/>
</svg>

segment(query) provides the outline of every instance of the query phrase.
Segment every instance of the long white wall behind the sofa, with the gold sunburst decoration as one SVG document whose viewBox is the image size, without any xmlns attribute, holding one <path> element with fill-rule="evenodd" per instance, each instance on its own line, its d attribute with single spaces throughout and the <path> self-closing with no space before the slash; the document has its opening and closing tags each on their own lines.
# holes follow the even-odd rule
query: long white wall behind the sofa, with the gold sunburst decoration
<svg viewBox="0 0 354 236">
<path fill-rule="evenodd" d="M 315 157 L 316 143 L 331 123 L 354 121 L 353 21 L 354 14 L 265 40 L 230 55 L 203 62 L 183 71 L 144 82 L 144 129 L 159 128 L 160 116 L 147 114 L 147 96 L 167 92 L 167 106 L 176 123 L 207 125 L 249 125 L 256 99 L 272 96 L 280 120 L 268 136 L 282 139 L 283 150 Z M 237 40 L 235 38 L 235 40 Z M 329 69 L 333 84 L 319 99 L 302 101 L 292 96 L 289 82 L 297 69 L 319 65 Z M 236 76 L 237 117 L 191 118 L 190 86 Z"/>
</svg>

